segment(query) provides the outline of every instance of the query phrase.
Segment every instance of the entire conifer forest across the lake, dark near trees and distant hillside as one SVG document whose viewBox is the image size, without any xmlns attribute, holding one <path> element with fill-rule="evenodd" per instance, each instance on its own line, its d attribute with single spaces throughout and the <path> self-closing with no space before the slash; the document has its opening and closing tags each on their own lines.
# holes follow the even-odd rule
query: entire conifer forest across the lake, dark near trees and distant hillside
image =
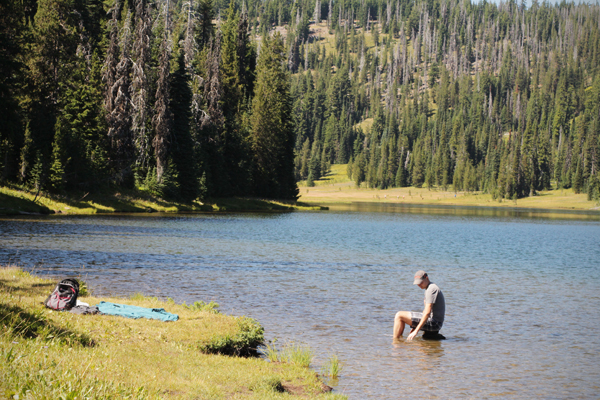
<svg viewBox="0 0 600 400">
<path fill-rule="evenodd" d="M 600 6 L 0 0 L 0 179 L 49 193 L 357 186 L 600 198 Z"/>
</svg>

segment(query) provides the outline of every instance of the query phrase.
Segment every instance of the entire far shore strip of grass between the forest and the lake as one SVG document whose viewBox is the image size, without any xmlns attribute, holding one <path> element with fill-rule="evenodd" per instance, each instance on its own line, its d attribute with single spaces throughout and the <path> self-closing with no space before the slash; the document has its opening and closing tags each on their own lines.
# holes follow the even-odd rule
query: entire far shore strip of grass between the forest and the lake
<svg viewBox="0 0 600 400">
<path fill-rule="evenodd" d="M 377 207 L 404 207 L 600 216 L 600 202 L 590 201 L 587 195 L 573 193 L 572 189 L 547 190 L 532 197 L 508 200 L 494 199 L 491 194 L 482 192 L 454 192 L 440 188 L 357 188 L 345 176 L 345 165 L 333 165 L 331 172 L 315 181 L 313 187 L 302 183 L 299 182 L 299 198 L 295 202 L 234 197 L 178 203 L 135 190 L 49 195 L 20 187 L 0 186 L 0 216 L 291 212 L 325 211 L 344 206 L 364 211 L 375 211 Z"/>
</svg>

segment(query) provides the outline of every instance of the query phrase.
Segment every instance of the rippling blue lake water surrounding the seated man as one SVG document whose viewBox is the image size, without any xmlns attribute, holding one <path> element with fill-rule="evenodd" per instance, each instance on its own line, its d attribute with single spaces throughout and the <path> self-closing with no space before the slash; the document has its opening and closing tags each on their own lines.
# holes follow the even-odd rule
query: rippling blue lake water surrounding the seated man
<svg viewBox="0 0 600 400">
<path fill-rule="evenodd" d="M 342 360 L 352 399 L 597 398 L 600 219 L 481 209 L 0 219 L 0 262 L 96 295 L 214 300 L 277 343 Z M 558 218 L 557 218 L 558 217 Z M 392 344 L 426 270 L 445 341 Z M 405 332 L 405 335 L 407 332 Z"/>
</svg>

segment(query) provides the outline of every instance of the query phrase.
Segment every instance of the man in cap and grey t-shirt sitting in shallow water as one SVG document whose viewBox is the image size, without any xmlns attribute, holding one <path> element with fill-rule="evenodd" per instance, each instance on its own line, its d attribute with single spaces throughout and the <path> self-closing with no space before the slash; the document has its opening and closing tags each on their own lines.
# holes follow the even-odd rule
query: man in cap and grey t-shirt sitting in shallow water
<svg viewBox="0 0 600 400">
<path fill-rule="evenodd" d="M 415 285 L 425 290 L 425 309 L 422 313 L 411 311 L 398 311 L 394 318 L 394 341 L 400 339 L 404 332 L 404 326 L 412 328 L 406 340 L 413 340 L 420 330 L 424 335 L 437 336 L 444 324 L 446 313 L 446 302 L 442 291 L 435 283 L 429 280 L 425 271 L 417 271 L 415 274 Z"/>
</svg>

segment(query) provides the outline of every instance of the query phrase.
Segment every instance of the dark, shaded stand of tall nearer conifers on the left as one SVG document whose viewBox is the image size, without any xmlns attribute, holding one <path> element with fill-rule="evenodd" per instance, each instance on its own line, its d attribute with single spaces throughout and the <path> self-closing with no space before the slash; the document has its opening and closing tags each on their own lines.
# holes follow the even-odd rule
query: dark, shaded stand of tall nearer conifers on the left
<svg viewBox="0 0 600 400">
<path fill-rule="evenodd" d="M 255 43 L 247 14 L 216 12 L 206 1 L 0 0 L 2 179 L 295 199 L 283 38 Z"/>
</svg>

